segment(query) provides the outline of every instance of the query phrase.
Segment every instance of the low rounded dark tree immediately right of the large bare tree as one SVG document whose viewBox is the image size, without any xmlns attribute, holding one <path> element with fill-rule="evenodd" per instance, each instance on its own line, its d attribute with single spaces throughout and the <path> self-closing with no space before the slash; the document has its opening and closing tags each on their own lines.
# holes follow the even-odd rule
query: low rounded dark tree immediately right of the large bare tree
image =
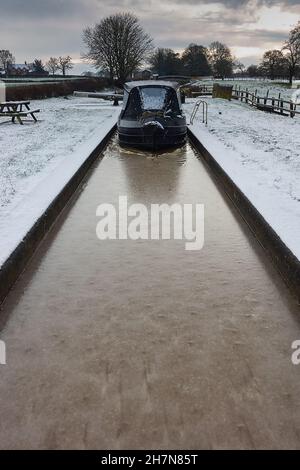
<svg viewBox="0 0 300 470">
<path fill-rule="evenodd" d="M 183 72 L 179 54 L 173 49 L 158 48 L 149 58 L 151 70 L 158 75 L 180 75 Z"/>
</svg>

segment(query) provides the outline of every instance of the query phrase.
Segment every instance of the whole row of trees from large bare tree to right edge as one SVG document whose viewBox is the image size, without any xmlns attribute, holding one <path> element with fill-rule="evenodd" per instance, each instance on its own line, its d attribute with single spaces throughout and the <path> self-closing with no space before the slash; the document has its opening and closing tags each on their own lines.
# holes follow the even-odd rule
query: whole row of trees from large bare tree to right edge
<svg viewBox="0 0 300 470">
<path fill-rule="evenodd" d="M 286 77 L 290 83 L 300 71 L 300 22 L 291 30 L 280 50 L 265 52 L 259 65 L 247 69 L 226 44 L 218 41 L 208 47 L 192 43 L 182 54 L 169 48 L 154 49 L 152 38 L 130 13 L 111 15 L 87 28 L 83 41 L 87 47 L 83 58 L 121 84 L 145 64 L 158 75 L 224 78 L 235 73 L 271 79 Z"/>
</svg>

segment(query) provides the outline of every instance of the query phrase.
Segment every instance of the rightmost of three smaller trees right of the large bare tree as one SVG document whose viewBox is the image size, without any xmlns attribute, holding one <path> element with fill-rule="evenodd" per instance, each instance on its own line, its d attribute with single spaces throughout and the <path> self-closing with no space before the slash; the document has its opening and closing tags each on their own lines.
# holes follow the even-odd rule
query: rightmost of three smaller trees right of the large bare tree
<svg viewBox="0 0 300 470">
<path fill-rule="evenodd" d="M 233 73 L 234 58 L 226 44 L 215 41 L 209 46 L 209 59 L 214 75 L 223 79 Z"/>
</svg>

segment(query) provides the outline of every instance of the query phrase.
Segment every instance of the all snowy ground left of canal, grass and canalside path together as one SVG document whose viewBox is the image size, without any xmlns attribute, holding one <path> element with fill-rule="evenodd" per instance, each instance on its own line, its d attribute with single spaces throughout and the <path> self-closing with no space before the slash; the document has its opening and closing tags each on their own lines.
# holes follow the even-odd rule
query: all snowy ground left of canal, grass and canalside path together
<svg viewBox="0 0 300 470">
<path fill-rule="evenodd" d="M 32 101 L 38 123 L 0 121 L 0 266 L 116 123 L 108 101 Z"/>
</svg>

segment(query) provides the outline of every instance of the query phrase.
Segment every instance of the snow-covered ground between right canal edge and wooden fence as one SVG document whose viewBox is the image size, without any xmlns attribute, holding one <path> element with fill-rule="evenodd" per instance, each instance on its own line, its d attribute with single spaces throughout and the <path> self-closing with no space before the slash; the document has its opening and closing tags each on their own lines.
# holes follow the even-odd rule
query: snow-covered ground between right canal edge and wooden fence
<svg viewBox="0 0 300 470">
<path fill-rule="evenodd" d="M 195 101 L 187 100 L 187 114 Z M 300 259 L 300 118 L 206 101 L 207 128 L 199 110 L 191 130 Z"/>
</svg>

